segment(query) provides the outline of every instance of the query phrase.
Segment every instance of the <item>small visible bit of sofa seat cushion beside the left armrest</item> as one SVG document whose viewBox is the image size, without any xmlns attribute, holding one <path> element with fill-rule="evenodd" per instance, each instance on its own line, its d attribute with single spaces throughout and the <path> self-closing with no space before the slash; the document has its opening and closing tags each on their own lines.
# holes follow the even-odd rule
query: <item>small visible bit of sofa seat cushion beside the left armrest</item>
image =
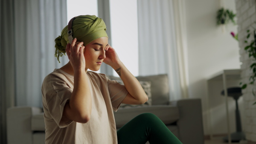
<svg viewBox="0 0 256 144">
<path fill-rule="evenodd" d="M 33 131 L 45 131 L 44 125 L 44 112 L 32 116 L 31 130 Z"/>
</svg>

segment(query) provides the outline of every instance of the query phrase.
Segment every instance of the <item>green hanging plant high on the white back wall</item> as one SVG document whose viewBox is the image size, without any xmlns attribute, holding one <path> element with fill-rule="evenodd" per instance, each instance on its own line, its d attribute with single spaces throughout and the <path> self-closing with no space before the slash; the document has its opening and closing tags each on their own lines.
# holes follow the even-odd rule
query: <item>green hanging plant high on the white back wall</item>
<svg viewBox="0 0 256 144">
<path fill-rule="evenodd" d="M 236 17 L 236 14 L 233 14 L 231 10 L 221 8 L 217 13 L 217 25 L 225 25 L 230 22 L 236 25 L 234 17 Z"/>
</svg>

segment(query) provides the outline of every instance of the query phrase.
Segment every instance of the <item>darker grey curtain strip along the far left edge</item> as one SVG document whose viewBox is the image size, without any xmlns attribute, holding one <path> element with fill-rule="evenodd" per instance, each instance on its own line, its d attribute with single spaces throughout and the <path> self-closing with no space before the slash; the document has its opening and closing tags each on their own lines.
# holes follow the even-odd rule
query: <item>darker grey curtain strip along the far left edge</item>
<svg viewBox="0 0 256 144">
<path fill-rule="evenodd" d="M 13 0 L 0 1 L 0 144 L 6 144 L 6 109 L 15 105 Z"/>
</svg>

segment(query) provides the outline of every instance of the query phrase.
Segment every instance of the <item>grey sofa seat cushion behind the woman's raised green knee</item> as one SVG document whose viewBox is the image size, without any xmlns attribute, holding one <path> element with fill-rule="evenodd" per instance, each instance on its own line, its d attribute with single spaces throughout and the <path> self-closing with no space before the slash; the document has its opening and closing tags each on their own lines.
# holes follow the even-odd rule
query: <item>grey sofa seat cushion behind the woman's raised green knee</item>
<svg viewBox="0 0 256 144">
<path fill-rule="evenodd" d="M 145 112 L 153 113 L 160 118 L 164 124 L 172 124 L 180 117 L 177 107 L 167 105 L 119 108 L 117 112 L 114 112 L 116 127 L 122 127 L 137 115 Z"/>
</svg>

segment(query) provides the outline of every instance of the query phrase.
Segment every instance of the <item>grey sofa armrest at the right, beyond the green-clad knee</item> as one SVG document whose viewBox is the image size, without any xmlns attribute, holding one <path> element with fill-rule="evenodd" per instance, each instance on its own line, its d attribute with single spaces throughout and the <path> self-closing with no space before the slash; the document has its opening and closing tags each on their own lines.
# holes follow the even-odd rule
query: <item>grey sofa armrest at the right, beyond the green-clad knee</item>
<svg viewBox="0 0 256 144">
<path fill-rule="evenodd" d="M 179 109 L 177 127 L 180 141 L 183 144 L 204 144 L 201 99 L 170 101 L 169 105 Z"/>
</svg>

